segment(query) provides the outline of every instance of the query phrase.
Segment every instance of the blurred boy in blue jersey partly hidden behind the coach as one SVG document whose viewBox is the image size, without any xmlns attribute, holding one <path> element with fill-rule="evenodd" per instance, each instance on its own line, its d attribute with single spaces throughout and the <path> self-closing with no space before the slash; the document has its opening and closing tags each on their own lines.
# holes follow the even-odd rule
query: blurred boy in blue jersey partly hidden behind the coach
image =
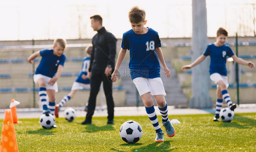
<svg viewBox="0 0 256 152">
<path fill-rule="evenodd" d="M 88 46 L 85 48 L 85 52 L 87 53 L 87 57 L 84 57 L 82 62 L 82 68 L 80 73 L 77 76 L 77 79 L 74 81 L 71 92 L 64 96 L 59 104 L 55 105 L 55 116 L 59 118 L 59 109 L 63 107 L 63 105 L 72 99 L 77 92 L 78 89 L 87 88 L 90 89 L 90 79 L 88 79 L 87 73 L 90 67 L 90 54 L 91 54 L 92 46 Z"/>
</svg>

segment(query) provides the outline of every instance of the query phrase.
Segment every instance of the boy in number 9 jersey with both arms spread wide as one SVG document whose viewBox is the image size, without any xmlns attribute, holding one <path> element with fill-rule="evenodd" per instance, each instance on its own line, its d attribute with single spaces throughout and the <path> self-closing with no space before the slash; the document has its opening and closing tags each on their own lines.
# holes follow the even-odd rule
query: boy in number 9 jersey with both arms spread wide
<svg viewBox="0 0 256 152">
<path fill-rule="evenodd" d="M 185 65 L 181 69 L 185 71 L 186 69 L 190 69 L 193 66 L 201 63 L 206 56 L 210 55 L 210 79 L 217 84 L 217 101 L 216 101 L 216 112 L 213 117 L 213 121 L 219 121 L 219 113 L 221 111 L 223 98 L 227 102 L 228 107 L 234 111 L 236 108 L 236 104 L 232 103 L 230 99 L 230 95 L 227 92 L 227 88 L 229 86 L 227 81 L 227 69 L 226 69 L 226 60 L 227 56 L 232 57 L 236 63 L 248 65 L 250 68 L 254 69 L 255 65 L 251 61 L 247 62 L 239 57 L 237 57 L 232 49 L 224 44 L 226 42 L 228 33 L 224 28 L 219 28 L 217 31 L 216 42 L 211 43 L 207 46 L 205 52 L 198 57 L 193 63 L 190 65 Z"/>
</svg>

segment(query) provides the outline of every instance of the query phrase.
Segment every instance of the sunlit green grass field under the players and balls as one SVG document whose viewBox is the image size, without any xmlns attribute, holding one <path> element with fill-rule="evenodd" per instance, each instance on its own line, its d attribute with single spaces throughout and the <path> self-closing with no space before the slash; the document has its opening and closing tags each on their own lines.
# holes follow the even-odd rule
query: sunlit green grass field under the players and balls
<svg viewBox="0 0 256 152">
<path fill-rule="evenodd" d="M 181 124 L 174 124 L 174 137 L 164 130 L 162 143 L 154 142 L 155 131 L 147 116 L 115 117 L 113 125 L 107 124 L 106 117 L 93 117 L 90 125 L 80 124 L 84 118 L 73 122 L 58 118 L 54 129 L 43 129 L 39 119 L 20 119 L 15 130 L 19 151 L 256 151 L 256 113 L 235 114 L 230 123 L 213 122 L 213 114 L 168 117 Z M 143 129 L 138 143 L 127 144 L 119 136 L 121 124 L 128 120 Z M 0 125 L 2 129 L 3 120 Z M 160 127 L 164 129 L 162 123 Z"/>
</svg>

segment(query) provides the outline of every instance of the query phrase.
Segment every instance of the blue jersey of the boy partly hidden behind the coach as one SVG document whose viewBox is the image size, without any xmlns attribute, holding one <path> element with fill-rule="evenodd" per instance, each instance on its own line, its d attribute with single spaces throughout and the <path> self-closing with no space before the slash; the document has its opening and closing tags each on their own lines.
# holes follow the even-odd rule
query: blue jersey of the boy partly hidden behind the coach
<svg viewBox="0 0 256 152">
<path fill-rule="evenodd" d="M 87 75 L 87 71 L 90 66 L 90 57 L 84 57 L 82 62 L 82 68 L 80 73 L 77 76 L 76 82 L 83 83 L 83 84 L 90 84 L 90 79 L 82 79 L 82 75 Z"/>
</svg>

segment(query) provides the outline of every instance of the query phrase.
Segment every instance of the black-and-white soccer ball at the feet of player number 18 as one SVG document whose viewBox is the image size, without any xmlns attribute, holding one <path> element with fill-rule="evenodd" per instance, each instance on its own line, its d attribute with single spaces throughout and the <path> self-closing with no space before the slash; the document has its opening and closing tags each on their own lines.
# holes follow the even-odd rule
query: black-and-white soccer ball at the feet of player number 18
<svg viewBox="0 0 256 152">
<path fill-rule="evenodd" d="M 142 136 L 141 125 L 136 121 L 124 122 L 119 130 L 120 137 L 127 143 L 136 143 L 141 139 Z"/>
</svg>

